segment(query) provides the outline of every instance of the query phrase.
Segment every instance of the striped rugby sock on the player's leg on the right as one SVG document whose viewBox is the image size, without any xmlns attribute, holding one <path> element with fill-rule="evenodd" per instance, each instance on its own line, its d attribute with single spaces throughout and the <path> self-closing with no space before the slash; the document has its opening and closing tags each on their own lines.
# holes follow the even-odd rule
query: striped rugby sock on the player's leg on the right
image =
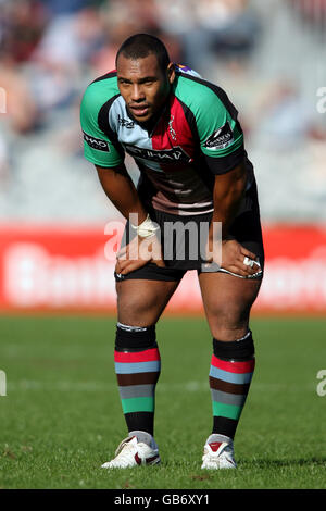
<svg viewBox="0 0 326 511">
<path fill-rule="evenodd" d="M 241 339 L 230 342 L 213 339 L 210 371 L 212 434 L 234 439 L 249 392 L 254 363 L 254 346 L 250 331 Z"/>
</svg>

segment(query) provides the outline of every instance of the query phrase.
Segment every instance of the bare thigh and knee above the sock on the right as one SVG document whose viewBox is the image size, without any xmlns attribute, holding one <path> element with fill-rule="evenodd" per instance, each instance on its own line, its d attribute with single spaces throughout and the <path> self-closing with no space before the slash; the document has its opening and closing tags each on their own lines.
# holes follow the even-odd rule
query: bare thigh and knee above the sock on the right
<svg viewBox="0 0 326 511">
<path fill-rule="evenodd" d="M 246 335 L 261 279 L 239 278 L 216 272 L 201 273 L 199 284 L 213 337 L 235 340 Z"/>
</svg>

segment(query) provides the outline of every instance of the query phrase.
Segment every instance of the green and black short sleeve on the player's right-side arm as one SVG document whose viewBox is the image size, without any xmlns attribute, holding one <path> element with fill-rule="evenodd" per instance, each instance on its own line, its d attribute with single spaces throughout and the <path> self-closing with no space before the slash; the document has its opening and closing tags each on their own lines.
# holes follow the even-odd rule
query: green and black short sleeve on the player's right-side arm
<svg viewBox="0 0 326 511">
<path fill-rule="evenodd" d="M 208 89 L 202 98 L 197 120 L 200 148 L 213 174 L 225 174 L 237 166 L 246 155 L 243 133 L 237 110 L 226 94 Z"/>
</svg>

